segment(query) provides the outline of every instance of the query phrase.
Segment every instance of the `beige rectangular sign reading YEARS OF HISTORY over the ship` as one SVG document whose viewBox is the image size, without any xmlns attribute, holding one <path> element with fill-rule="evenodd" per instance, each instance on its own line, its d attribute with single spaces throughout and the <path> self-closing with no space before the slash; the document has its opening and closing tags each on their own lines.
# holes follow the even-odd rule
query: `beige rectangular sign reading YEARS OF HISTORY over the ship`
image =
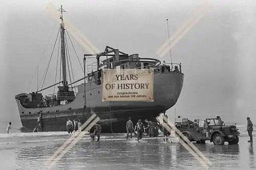
<svg viewBox="0 0 256 170">
<path fill-rule="evenodd" d="M 103 69 L 102 101 L 154 101 L 153 69 Z"/>
</svg>

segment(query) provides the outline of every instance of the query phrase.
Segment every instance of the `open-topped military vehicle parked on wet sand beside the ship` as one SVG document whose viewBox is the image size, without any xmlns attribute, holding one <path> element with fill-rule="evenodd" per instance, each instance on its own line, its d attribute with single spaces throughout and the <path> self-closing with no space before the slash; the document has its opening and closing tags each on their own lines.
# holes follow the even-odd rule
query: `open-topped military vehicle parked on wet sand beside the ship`
<svg viewBox="0 0 256 170">
<path fill-rule="evenodd" d="M 190 141 L 205 143 L 206 140 L 214 144 L 223 145 L 225 141 L 229 144 L 238 144 L 239 134 L 234 125 L 225 126 L 220 116 L 217 118 L 195 119 L 194 122 L 183 118 L 182 122 L 175 123 L 184 136 Z"/>
</svg>

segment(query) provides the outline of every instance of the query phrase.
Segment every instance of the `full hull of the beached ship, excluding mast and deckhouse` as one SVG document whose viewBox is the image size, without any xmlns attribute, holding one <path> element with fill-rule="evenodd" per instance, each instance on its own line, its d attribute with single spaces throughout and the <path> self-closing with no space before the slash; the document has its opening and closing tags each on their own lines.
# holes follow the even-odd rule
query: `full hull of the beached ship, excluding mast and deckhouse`
<svg viewBox="0 0 256 170">
<path fill-rule="evenodd" d="M 31 132 L 38 126 L 38 113 L 43 115 L 44 131 L 66 131 L 68 118 L 79 118 L 84 123 L 95 113 L 100 118 L 98 123 L 103 133 L 123 133 L 128 117 L 132 117 L 134 125 L 138 119 L 155 121 L 157 115 L 173 107 L 180 96 L 183 77 L 179 72 L 154 74 L 154 102 L 102 102 L 102 86 L 94 82 L 86 84 L 86 101 L 83 98 L 83 84 L 78 87 L 76 99 L 68 105 L 28 109 L 16 100 L 24 127 L 22 131 Z"/>
</svg>

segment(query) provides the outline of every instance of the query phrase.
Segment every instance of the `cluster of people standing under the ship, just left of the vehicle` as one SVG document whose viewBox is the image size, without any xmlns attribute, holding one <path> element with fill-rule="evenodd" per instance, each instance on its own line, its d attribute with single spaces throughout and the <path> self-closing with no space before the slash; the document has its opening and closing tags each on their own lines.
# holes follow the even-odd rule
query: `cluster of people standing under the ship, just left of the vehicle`
<svg viewBox="0 0 256 170">
<path fill-rule="evenodd" d="M 129 117 L 129 120 L 126 122 L 126 139 L 128 139 L 129 134 L 131 134 L 131 138 L 133 138 L 133 132 L 137 135 L 138 142 L 142 139 L 142 135 L 148 135 L 150 137 L 157 137 L 159 135 L 159 127 L 155 122 L 144 120 L 147 123 L 147 127 L 145 128 L 141 119 L 138 120 L 138 123 L 133 127 L 132 117 Z M 147 132 L 147 133 L 146 133 Z M 167 130 L 164 131 L 164 136 L 169 136 Z"/>
</svg>

